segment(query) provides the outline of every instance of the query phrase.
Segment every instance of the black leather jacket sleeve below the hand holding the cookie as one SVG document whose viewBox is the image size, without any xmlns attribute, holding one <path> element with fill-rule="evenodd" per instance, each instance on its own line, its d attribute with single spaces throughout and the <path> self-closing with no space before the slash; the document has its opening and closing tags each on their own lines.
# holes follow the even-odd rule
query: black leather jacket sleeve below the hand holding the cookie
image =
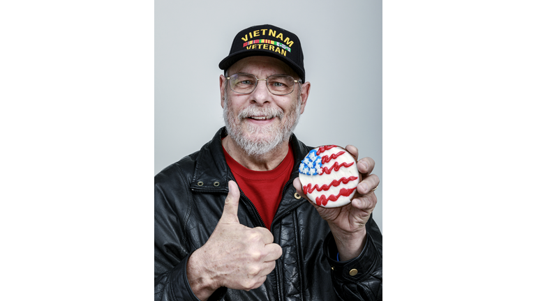
<svg viewBox="0 0 536 301">
<path fill-rule="evenodd" d="M 382 300 L 382 234 L 372 217 L 366 224 L 363 251 L 349 261 L 337 261 L 337 247 L 330 232 L 324 252 L 332 266 L 332 283 L 339 300 Z"/>
</svg>

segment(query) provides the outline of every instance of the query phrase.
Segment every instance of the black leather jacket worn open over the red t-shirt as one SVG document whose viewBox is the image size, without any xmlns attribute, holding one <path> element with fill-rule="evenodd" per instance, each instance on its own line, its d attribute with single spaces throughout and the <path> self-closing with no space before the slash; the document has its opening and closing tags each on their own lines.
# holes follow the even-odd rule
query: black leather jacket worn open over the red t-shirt
<svg viewBox="0 0 536 301">
<path fill-rule="evenodd" d="M 163 169 L 154 178 L 154 299 L 198 300 L 186 277 L 186 262 L 209 239 L 223 212 L 228 181 L 221 128 L 200 151 Z M 259 288 L 219 288 L 209 300 L 382 300 L 382 235 L 373 219 L 366 224 L 362 254 L 336 261 L 332 233 L 316 209 L 296 194 L 292 180 L 312 148 L 291 137 L 295 167 L 286 183 L 271 233 L 283 255 Z M 241 192 L 238 217 L 249 227 L 264 226 L 253 203 Z M 357 270 L 357 275 L 353 275 Z M 353 276 L 352 276 L 353 275 Z"/>
</svg>

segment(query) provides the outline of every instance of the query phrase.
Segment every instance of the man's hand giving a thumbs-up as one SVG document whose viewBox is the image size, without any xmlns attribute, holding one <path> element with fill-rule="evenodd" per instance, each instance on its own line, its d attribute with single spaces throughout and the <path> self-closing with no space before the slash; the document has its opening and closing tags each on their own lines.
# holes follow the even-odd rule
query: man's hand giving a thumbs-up
<svg viewBox="0 0 536 301">
<path fill-rule="evenodd" d="M 258 288 L 283 254 L 268 229 L 239 223 L 239 197 L 237 184 L 229 181 L 216 229 L 188 260 L 188 281 L 200 300 L 207 300 L 221 286 L 245 291 Z"/>
</svg>

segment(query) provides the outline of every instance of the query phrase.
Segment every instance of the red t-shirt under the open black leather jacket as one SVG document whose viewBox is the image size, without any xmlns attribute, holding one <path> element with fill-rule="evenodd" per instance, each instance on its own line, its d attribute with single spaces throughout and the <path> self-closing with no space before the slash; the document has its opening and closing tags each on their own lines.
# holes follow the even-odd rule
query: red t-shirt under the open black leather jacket
<svg viewBox="0 0 536 301">
<path fill-rule="evenodd" d="M 252 171 L 246 169 L 239 162 L 234 160 L 223 148 L 225 160 L 231 168 L 234 178 L 240 189 L 253 202 L 255 208 L 265 222 L 267 229 L 270 229 L 271 222 L 276 215 L 283 187 L 290 179 L 292 167 L 294 167 L 294 155 L 292 148 L 288 147 L 288 153 L 283 162 L 271 171 Z"/>
</svg>

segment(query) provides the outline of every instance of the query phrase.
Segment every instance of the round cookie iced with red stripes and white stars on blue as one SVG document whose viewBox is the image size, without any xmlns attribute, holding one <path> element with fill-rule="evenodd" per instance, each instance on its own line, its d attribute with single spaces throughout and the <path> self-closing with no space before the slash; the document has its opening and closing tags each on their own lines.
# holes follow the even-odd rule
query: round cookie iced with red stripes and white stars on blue
<svg viewBox="0 0 536 301">
<path fill-rule="evenodd" d="M 352 201 L 359 183 L 357 162 L 340 146 L 320 146 L 301 160 L 299 180 L 304 193 L 318 206 L 345 206 Z"/>
</svg>

